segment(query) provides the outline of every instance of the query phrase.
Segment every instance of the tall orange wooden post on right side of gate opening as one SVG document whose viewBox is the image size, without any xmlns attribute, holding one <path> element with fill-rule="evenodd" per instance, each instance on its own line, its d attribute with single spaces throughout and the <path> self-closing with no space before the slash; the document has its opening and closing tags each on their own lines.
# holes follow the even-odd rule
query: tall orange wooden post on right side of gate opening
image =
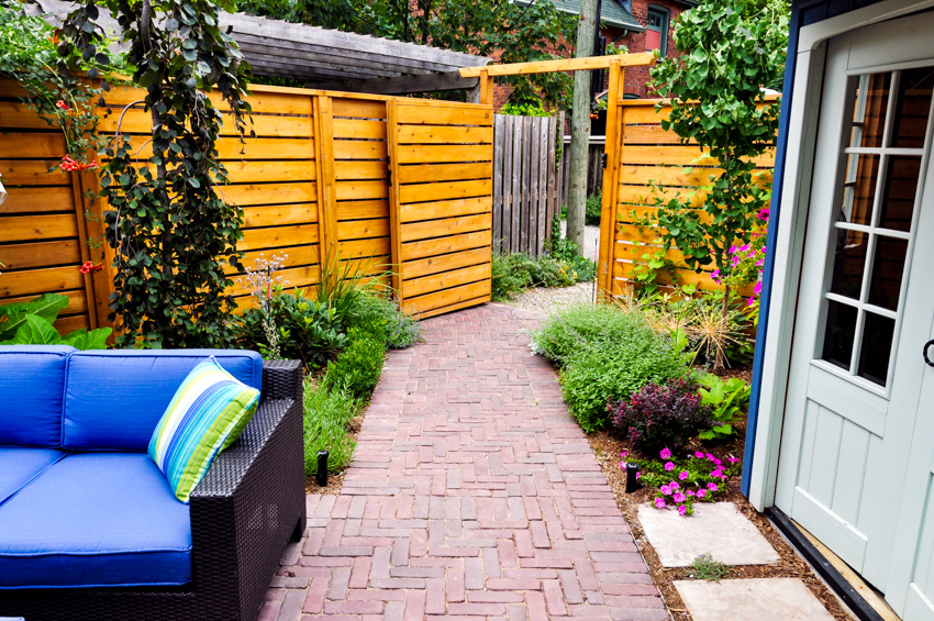
<svg viewBox="0 0 934 621">
<path fill-rule="evenodd" d="M 605 154 L 603 171 L 603 201 L 600 209 L 600 259 L 597 263 L 599 296 L 613 295 L 614 246 L 616 241 L 616 195 L 619 190 L 620 153 L 623 142 L 623 108 L 620 98 L 624 71 L 618 62 L 610 64 L 610 88 L 607 93 Z"/>
</svg>

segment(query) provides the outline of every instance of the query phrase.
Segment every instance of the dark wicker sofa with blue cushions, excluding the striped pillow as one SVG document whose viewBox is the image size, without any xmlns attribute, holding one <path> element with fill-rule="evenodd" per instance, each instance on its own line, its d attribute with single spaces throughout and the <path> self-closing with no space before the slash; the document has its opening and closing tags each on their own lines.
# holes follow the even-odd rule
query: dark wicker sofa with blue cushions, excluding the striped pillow
<svg viewBox="0 0 934 621">
<path fill-rule="evenodd" d="M 146 448 L 209 356 L 260 403 L 186 504 Z M 0 346 L 0 617 L 254 619 L 304 529 L 302 452 L 298 362 Z"/>
</svg>

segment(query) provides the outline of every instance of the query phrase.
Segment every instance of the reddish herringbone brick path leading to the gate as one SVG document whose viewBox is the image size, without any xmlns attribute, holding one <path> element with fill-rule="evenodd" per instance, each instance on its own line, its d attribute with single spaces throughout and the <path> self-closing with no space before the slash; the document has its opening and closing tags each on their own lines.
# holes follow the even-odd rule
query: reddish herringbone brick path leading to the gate
<svg viewBox="0 0 934 621">
<path fill-rule="evenodd" d="M 487 304 L 389 354 L 260 619 L 668 619 L 533 325 Z"/>
</svg>

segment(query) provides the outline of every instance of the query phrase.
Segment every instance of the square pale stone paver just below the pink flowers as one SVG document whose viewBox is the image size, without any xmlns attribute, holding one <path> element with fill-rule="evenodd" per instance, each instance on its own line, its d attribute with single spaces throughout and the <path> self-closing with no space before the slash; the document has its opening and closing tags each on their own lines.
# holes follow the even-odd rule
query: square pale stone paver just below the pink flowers
<svg viewBox="0 0 934 621">
<path fill-rule="evenodd" d="M 732 502 L 696 502 L 693 515 L 640 507 L 638 521 L 665 567 L 688 567 L 710 552 L 727 565 L 777 563 L 778 553 Z"/>
</svg>

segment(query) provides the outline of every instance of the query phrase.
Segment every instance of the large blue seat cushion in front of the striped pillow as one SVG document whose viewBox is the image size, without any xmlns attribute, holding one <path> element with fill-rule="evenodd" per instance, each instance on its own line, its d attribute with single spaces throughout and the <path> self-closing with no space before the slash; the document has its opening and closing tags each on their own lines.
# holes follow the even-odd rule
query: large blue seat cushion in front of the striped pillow
<svg viewBox="0 0 934 621">
<path fill-rule="evenodd" d="M 73 453 L 0 504 L 0 589 L 191 581 L 191 524 L 145 453 Z"/>
</svg>

